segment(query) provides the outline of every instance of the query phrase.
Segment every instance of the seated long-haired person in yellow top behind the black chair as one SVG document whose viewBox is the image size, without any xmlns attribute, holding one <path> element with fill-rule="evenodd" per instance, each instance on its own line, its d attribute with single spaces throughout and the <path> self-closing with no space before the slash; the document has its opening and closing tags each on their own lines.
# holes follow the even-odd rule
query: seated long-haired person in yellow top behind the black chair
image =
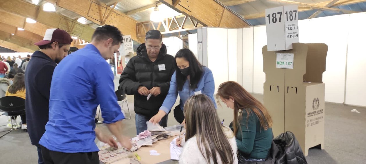
<svg viewBox="0 0 366 164">
<path fill-rule="evenodd" d="M 5 93 L 5 96 L 16 96 L 25 99 L 25 82 L 23 73 L 18 73 L 14 76 L 14 83 L 11 86 L 9 86 L 8 91 L 6 91 Z M 20 115 L 20 118 L 22 119 L 22 130 L 27 129 L 27 121 L 25 114 Z M 11 128 L 11 126 L 13 126 L 13 128 L 18 129 L 19 127 L 15 122 L 16 116 L 12 117 L 11 119 L 13 119 L 12 120 L 13 125 L 8 124 L 7 127 Z"/>
</svg>

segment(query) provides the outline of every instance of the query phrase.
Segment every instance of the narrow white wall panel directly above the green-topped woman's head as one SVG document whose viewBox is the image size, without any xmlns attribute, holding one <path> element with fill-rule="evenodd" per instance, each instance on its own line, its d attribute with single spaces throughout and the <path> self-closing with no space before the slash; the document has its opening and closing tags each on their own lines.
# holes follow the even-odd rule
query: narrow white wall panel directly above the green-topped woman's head
<svg viewBox="0 0 366 164">
<path fill-rule="evenodd" d="M 228 29 L 228 80 L 229 81 L 237 81 L 237 49 L 236 49 L 236 37 L 237 37 L 236 29 Z"/>
</svg>

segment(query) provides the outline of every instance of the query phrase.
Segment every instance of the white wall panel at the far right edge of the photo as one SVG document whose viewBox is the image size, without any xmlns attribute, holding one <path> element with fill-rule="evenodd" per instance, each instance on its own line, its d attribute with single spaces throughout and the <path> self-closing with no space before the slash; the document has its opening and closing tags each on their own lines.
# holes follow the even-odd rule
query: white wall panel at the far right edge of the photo
<svg viewBox="0 0 366 164">
<path fill-rule="evenodd" d="M 366 13 L 350 15 L 346 104 L 366 106 Z M 359 29 L 359 30 L 356 30 Z"/>
</svg>

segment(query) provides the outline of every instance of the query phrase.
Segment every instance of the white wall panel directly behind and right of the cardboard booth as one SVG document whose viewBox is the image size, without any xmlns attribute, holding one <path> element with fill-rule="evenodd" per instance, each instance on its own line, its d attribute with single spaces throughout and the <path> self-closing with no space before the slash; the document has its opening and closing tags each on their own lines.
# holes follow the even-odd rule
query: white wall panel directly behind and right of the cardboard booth
<svg viewBox="0 0 366 164">
<path fill-rule="evenodd" d="M 310 23 L 311 28 L 308 28 L 310 33 L 307 35 L 311 36 L 310 43 L 328 45 L 326 68 L 323 73 L 325 101 L 328 102 L 344 102 L 348 21 L 349 15 L 320 17 L 313 19 Z"/>
</svg>

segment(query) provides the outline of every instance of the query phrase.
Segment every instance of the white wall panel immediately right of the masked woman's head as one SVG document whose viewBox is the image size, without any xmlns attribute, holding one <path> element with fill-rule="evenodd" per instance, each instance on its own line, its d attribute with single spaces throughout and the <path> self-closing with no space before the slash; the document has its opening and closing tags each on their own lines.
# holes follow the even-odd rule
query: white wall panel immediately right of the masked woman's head
<svg viewBox="0 0 366 164">
<path fill-rule="evenodd" d="M 220 42 L 217 42 L 220 40 Z M 228 81 L 228 29 L 207 28 L 207 62 L 217 87 Z"/>
</svg>

